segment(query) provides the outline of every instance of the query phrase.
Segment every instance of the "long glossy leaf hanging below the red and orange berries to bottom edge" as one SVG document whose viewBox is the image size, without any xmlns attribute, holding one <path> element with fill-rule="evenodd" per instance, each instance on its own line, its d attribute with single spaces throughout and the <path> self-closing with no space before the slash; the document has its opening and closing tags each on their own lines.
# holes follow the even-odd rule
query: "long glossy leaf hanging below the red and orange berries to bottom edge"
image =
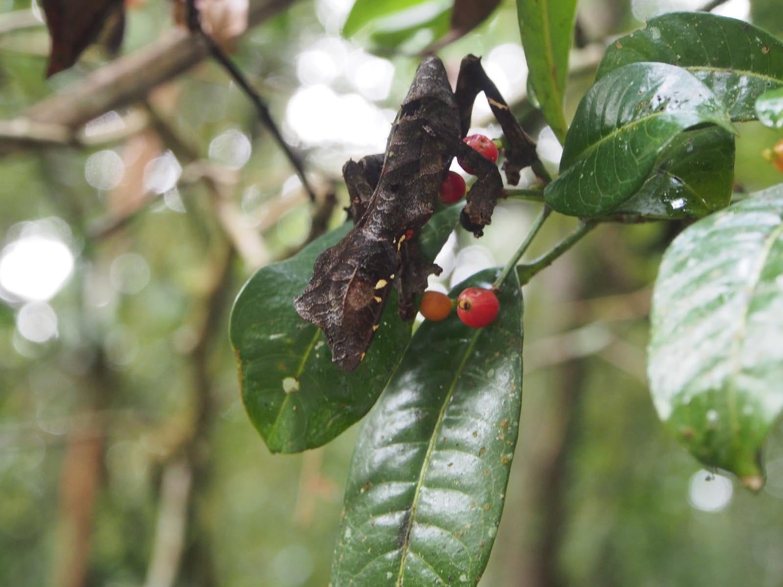
<svg viewBox="0 0 783 587">
<path fill-rule="evenodd" d="M 487 286 L 498 270 L 464 286 Z M 522 300 L 514 273 L 500 314 L 474 330 L 425 321 L 370 412 L 345 490 L 332 587 L 476 585 L 503 511 L 517 441 Z"/>
</svg>

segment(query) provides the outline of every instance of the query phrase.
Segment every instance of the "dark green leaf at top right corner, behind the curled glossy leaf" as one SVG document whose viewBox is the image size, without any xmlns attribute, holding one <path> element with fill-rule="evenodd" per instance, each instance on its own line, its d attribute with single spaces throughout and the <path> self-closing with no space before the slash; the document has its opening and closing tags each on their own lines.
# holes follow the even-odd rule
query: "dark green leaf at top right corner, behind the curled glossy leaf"
<svg viewBox="0 0 783 587">
<path fill-rule="evenodd" d="M 597 78 L 628 63 L 684 67 L 726 104 L 731 119 L 756 117 L 756 98 L 783 86 L 783 43 L 742 20 L 710 13 L 669 13 L 609 45 Z"/>
</svg>

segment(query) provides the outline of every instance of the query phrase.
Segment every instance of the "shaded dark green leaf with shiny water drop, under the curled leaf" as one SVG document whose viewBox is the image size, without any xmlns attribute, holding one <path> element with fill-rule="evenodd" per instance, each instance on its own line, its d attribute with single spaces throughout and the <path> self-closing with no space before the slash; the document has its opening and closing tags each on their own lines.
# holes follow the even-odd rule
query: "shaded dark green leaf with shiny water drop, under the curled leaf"
<svg viewBox="0 0 783 587">
<path fill-rule="evenodd" d="M 734 136 L 707 127 L 677 135 L 641 189 L 614 214 L 702 218 L 727 207 L 734 191 Z"/>
</svg>

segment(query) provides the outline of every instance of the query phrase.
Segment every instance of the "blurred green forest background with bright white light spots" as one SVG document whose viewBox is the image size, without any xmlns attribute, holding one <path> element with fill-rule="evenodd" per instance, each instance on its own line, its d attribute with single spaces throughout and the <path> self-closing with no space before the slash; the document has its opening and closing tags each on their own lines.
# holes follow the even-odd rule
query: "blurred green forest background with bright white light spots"
<svg viewBox="0 0 783 587">
<path fill-rule="evenodd" d="M 613 36 L 703 4 L 580 2 L 568 111 Z M 319 193 L 334 182 L 341 204 L 341 165 L 384 149 L 411 54 L 443 22 L 370 23 L 346 41 L 351 5 L 290 2 L 234 54 Z M 717 10 L 783 31 L 777 0 Z M 122 52 L 169 34 L 170 14 L 162 0 L 129 2 Z M 110 67 L 90 49 L 45 81 L 48 49 L 38 5 L 0 0 L 0 118 Z M 514 2 L 442 49 L 450 74 L 468 52 L 554 167 L 557 142 L 525 98 Z M 496 135 L 483 104 L 474 114 Z M 780 182 L 760 157 L 780 133 L 739 131 L 738 190 Z M 270 455 L 244 415 L 226 335 L 244 279 L 309 233 L 298 179 L 209 61 L 83 135 L 91 146 L 0 159 L 0 585 L 327 585 L 356 427 Z M 434 286 L 502 264 L 535 208 L 504 203 L 484 239 L 451 239 Z M 331 225 L 342 218 L 337 207 Z M 531 254 L 571 227 L 552 221 Z M 783 433 L 768 445 L 767 488 L 750 495 L 701 470 L 648 398 L 650 284 L 680 228 L 602 226 L 525 287 L 521 436 L 482 585 L 783 583 Z"/>
</svg>

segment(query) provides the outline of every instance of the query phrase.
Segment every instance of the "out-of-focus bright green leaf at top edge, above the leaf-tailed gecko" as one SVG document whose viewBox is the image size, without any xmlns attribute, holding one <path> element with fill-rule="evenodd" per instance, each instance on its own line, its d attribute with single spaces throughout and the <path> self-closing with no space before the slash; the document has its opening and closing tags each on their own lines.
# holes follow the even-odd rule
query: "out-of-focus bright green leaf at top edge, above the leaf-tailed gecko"
<svg viewBox="0 0 783 587">
<path fill-rule="evenodd" d="M 351 37 L 373 21 L 379 21 L 384 31 L 402 31 L 414 23 L 430 21 L 450 7 L 449 0 L 356 0 L 342 34 Z"/>
</svg>

